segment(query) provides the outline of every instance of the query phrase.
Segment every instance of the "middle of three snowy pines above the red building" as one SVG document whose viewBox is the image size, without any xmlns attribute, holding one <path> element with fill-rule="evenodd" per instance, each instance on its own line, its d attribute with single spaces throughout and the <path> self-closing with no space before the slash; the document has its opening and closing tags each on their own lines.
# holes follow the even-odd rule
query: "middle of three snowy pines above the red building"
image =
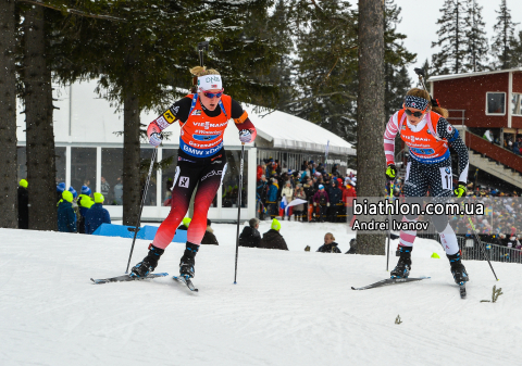
<svg viewBox="0 0 522 366">
<path fill-rule="evenodd" d="M 468 0 L 468 14 L 464 18 L 465 38 L 468 52 L 464 58 L 464 68 L 469 72 L 482 72 L 487 70 L 488 45 L 486 38 L 485 23 L 482 20 L 482 7 L 476 0 Z"/>
</svg>

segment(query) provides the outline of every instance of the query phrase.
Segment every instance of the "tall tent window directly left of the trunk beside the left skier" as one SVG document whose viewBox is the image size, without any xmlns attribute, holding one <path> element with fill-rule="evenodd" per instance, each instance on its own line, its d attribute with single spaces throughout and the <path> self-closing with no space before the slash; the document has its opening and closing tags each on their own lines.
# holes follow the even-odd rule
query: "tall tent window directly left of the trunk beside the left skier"
<svg viewBox="0 0 522 366">
<path fill-rule="evenodd" d="M 123 204 L 123 149 L 101 149 L 101 193 L 104 204 Z"/>
</svg>

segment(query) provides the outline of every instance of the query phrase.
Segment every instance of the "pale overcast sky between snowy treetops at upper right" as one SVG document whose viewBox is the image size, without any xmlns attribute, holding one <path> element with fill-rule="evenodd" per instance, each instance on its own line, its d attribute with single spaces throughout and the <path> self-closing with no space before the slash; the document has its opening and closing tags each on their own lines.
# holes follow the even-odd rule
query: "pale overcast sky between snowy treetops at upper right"
<svg viewBox="0 0 522 366">
<path fill-rule="evenodd" d="M 399 33 L 407 36 L 405 46 L 410 52 L 417 53 L 417 62 L 409 67 L 412 81 L 417 81 L 414 67 L 420 67 L 426 59 L 432 60 L 432 54 L 438 49 L 432 48 L 432 42 L 438 40 L 437 20 L 440 18 L 444 0 L 396 0 L 402 11 L 402 22 L 398 25 Z M 488 43 L 493 38 L 493 26 L 497 23 L 498 14 L 495 11 L 500 9 L 500 0 L 477 0 L 483 8 L 482 17 L 486 23 Z M 522 0 L 508 0 L 508 9 L 511 10 L 513 23 L 522 23 Z M 522 24 L 515 26 L 515 33 L 522 30 Z"/>
</svg>

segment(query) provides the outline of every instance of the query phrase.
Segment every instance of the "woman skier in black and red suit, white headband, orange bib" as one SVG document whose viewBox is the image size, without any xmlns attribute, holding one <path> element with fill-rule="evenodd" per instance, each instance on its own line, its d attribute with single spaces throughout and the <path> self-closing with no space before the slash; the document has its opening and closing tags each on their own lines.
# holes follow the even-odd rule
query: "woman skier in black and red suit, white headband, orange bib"
<svg viewBox="0 0 522 366">
<path fill-rule="evenodd" d="M 147 128 L 149 142 L 157 147 L 161 143 L 161 131 L 174 122 L 179 123 L 182 132 L 171 212 L 160 225 L 147 256 L 133 267 L 132 276 L 144 277 L 154 270 L 187 213 L 192 191 L 198 187 L 186 249 L 179 263 L 181 275 L 194 277 L 195 256 L 207 229 L 207 214 L 226 172 L 223 134 L 228 121 L 232 118 L 239 129 L 241 142 L 256 139 L 256 127 L 247 112 L 229 96 L 223 94 L 220 73 L 199 66 L 190 72 L 198 76 L 198 93 L 175 102 Z"/>
</svg>

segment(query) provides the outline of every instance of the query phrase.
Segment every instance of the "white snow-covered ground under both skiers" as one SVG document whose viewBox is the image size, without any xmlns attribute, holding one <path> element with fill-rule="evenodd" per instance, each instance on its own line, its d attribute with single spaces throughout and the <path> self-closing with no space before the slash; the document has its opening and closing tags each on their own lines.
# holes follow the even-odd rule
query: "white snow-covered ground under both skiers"
<svg viewBox="0 0 522 366">
<path fill-rule="evenodd" d="M 352 291 L 388 276 L 384 256 L 303 251 L 332 231 L 346 252 L 353 234 L 340 224 L 282 226 L 290 251 L 240 248 L 233 285 L 236 226 L 214 224 L 199 293 L 169 277 L 92 285 L 124 273 L 129 239 L 0 229 L 0 365 L 522 364 L 521 265 L 494 263 L 496 282 L 486 262 L 465 262 L 461 300 L 440 245 L 419 240 L 412 276 L 432 279 Z M 176 274 L 183 249 L 169 247 L 157 272 Z M 504 294 L 481 303 L 494 285 Z"/>
</svg>

